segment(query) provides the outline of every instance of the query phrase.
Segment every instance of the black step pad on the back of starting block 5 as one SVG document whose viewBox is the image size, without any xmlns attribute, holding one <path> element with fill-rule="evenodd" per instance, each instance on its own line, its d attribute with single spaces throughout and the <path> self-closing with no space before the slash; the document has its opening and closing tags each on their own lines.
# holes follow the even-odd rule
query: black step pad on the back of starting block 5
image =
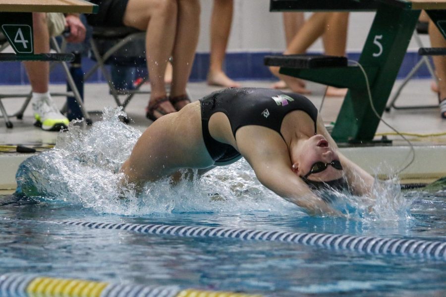
<svg viewBox="0 0 446 297">
<path fill-rule="evenodd" d="M 298 69 L 346 67 L 347 58 L 323 54 L 281 54 L 265 56 L 264 63 L 267 66 Z"/>
</svg>

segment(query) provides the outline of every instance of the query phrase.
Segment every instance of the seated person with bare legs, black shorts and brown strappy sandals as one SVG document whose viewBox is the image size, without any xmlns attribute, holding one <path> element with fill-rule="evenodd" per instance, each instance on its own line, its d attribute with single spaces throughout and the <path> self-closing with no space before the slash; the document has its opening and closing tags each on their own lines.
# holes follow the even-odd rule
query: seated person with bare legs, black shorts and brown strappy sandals
<svg viewBox="0 0 446 297">
<path fill-rule="evenodd" d="M 99 13 L 87 15 L 92 26 L 127 26 L 146 32 L 146 60 L 151 94 L 146 117 L 155 121 L 183 108 L 190 99 L 186 84 L 192 70 L 200 26 L 199 0 L 91 0 Z M 167 96 L 165 71 L 172 57 Z"/>
</svg>

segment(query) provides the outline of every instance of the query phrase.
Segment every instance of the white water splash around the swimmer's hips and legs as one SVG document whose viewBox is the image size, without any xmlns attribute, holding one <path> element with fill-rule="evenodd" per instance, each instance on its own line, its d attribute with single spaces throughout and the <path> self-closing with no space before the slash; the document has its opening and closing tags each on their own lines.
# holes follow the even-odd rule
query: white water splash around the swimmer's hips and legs
<svg viewBox="0 0 446 297">
<path fill-rule="evenodd" d="M 71 124 L 59 134 L 54 149 L 19 166 L 16 195 L 124 215 L 290 209 L 288 202 L 257 182 L 246 162 L 176 186 L 168 178 L 147 183 L 139 195 L 132 187 L 119 188 L 122 176 L 117 172 L 141 136 L 119 121 L 122 116 L 122 110 L 106 108 L 103 120 L 88 131 Z"/>
</svg>

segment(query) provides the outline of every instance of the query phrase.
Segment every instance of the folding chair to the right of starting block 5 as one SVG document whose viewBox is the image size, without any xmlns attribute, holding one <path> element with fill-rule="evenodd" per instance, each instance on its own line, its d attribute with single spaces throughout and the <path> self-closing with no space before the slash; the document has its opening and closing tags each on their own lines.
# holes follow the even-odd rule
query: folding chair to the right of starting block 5
<svg viewBox="0 0 446 297">
<path fill-rule="evenodd" d="M 427 35 L 428 33 L 428 23 L 427 22 L 418 22 L 416 26 L 416 30 L 413 33 L 413 37 L 415 39 L 415 42 L 417 43 L 419 48 L 423 48 L 423 43 L 421 42 L 420 35 Z M 429 70 L 429 73 L 431 74 L 431 77 L 435 80 L 437 80 L 437 76 L 435 75 L 434 67 L 432 66 L 431 61 L 429 60 L 429 57 L 426 55 L 423 55 L 421 59 L 418 61 L 418 63 L 412 68 L 412 70 L 407 74 L 407 76 L 404 78 L 402 84 L 398 87 L 398 89 L 395 92 L 395 95 L 390 99 L 390 103 L 386 107 L 386 111 L 389 112 L 390 109 L 393 107 L 395 109 L 411 109 L 411 108 L 436 108 L 437 105 L 410 105 L 410 106 L 396 106 L 395 102 L 396 99 L 398 99 L 402 89 L 404 86 L 412 79 L 412 77 L 417 73 L 418 69 L 420 69 L 421 66 L 426 65 L 427 69 Z"/>
</svg>

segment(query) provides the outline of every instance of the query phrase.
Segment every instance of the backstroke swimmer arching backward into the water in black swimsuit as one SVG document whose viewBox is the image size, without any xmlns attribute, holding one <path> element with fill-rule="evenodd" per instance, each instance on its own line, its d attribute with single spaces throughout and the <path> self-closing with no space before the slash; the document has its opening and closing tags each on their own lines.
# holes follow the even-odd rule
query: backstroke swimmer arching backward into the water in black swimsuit
<svg viewBox="0 0 446 297">
<path fill-rule="evenodd" d="M 318 110 L 302 95 L 230 88 L 189 103 L 150 125 L 120 172 L 137 188 L 182 168 L 203 174 L 244 157 L 258 180 L 311 214 L 337 214 L 315 189 L 369 194 L 374 179 L 343 156 Z"/>
</svg>

